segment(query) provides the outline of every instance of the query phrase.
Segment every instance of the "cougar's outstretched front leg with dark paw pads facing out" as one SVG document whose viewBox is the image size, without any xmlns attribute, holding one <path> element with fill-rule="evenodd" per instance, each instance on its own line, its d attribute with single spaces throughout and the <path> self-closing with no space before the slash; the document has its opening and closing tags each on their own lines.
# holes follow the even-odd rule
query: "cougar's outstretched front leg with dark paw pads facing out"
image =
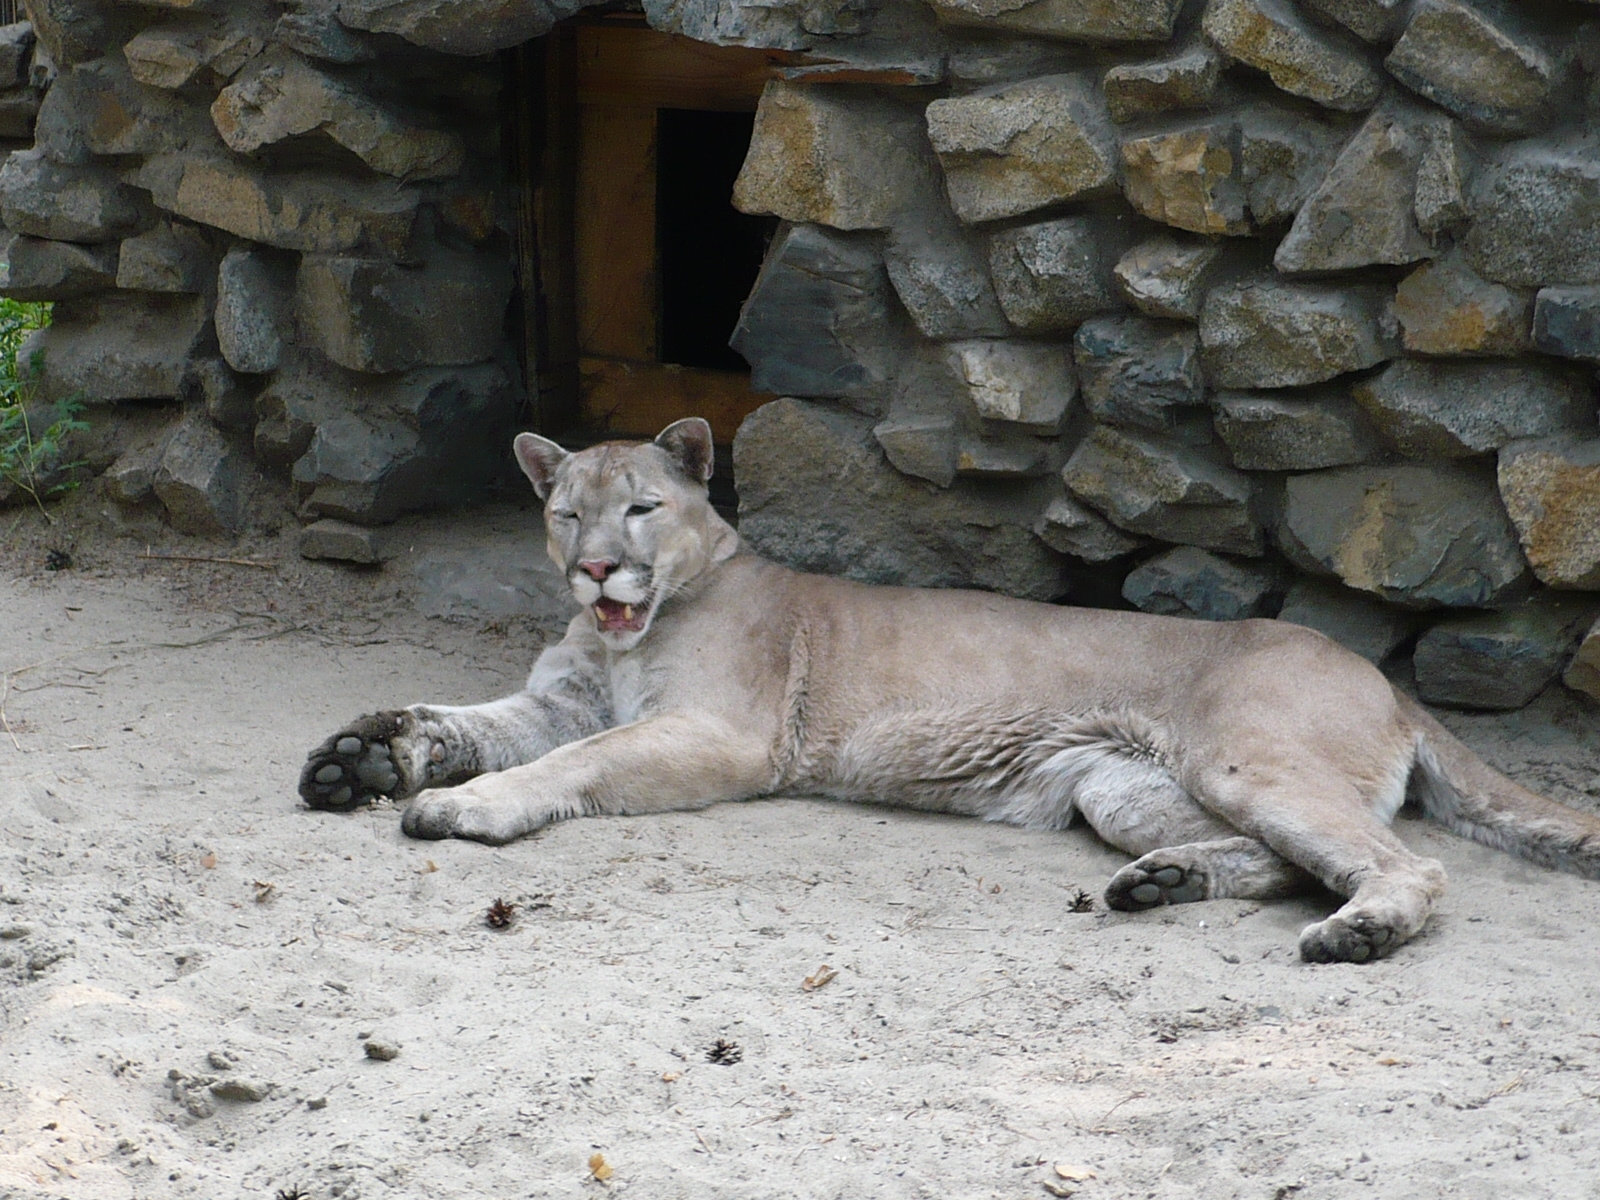
<svg viewBox="0 0 1600 1200">
<path fill-rule="evenodd" d="M 387 795 L 402 800 L 483 771 L 530 763 L 605 728 L 576 699 L 523 691 L 490 704 L 410 709 L 362 717 L 310 752 L 299 794 L 312 808 L 347 810 Z"/>
</svg>

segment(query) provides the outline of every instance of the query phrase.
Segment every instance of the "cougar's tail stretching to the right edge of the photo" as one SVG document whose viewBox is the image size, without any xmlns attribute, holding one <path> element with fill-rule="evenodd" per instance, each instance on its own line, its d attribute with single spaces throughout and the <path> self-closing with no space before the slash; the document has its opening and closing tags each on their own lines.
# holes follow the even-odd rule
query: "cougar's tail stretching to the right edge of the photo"
<svg viewBox="0 0 1600 1200">
<path fill-rule="evenodd" d="M 1600 818 L 1512 782 L 1398 688 L 1395 698 L 1418 733 L 1411 781 L 1430 818 L 1486 846 L 1600 878 Z"/>
</svg>

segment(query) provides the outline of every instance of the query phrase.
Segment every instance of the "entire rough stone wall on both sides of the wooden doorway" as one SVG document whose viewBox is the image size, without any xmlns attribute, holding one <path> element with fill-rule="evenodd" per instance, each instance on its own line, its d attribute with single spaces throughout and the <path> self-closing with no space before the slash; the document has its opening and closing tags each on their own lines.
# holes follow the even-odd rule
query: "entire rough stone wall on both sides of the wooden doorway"
<svg viewBox="0 0 1600 1200">
<path fill-rule="evenodd" d="M 107 488 L 470 494 L 517 419 L 493 51 L 576 0 L 30 0 L 0 291 Z M 1278 614 L 1429 699 L 1600 694 L 1600 5 L 645 0 L 786 51 L 741 528 L 878 581 Z M 37 34 L 37 43 L 34 40 Z"/>
</svg>

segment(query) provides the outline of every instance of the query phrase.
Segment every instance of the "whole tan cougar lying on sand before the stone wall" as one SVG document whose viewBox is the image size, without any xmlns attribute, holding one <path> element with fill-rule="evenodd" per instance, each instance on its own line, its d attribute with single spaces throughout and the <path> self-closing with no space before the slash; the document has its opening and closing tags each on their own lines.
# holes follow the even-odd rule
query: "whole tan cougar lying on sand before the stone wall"
<svg viewBox="0 0 1600 1200">
<path fill-rule="evenodd" d="M 1056 608 L 798 574 L 710 507 L 710 426 L 517 461 L 582 613 L 515 696 L 363 717 L 301 795 L 418 795 L 411 837 L 501 843 L 552 821 L 822 795 L 1037 829 L 1074 814 L 1136 859 L 1115 909 L 1349 898 L 1312 962 L 1389 954 L 1438 862 L 1389 830 L 1414 798 L 1451 830 L 1600 877 L 1600 819 L 1486 766 L 1365 659 L 1278 621 Z"/>
</svg>

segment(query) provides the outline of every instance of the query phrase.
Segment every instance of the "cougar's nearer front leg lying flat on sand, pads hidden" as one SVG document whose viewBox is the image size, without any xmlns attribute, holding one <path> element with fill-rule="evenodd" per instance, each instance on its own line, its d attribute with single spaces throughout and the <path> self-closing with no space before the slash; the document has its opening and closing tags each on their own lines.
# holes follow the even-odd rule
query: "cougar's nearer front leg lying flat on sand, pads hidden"
<svg viewBox="0 0 1600 1200">
<path fill-rule="evenodd" d="M 773 786 L 768 741 L 712 717 L 667 714 L 563 746 L 411 803 L 411 837 L 501 845 L 552 821 L 664 813 L 744 800 Z"/>
</svg>

